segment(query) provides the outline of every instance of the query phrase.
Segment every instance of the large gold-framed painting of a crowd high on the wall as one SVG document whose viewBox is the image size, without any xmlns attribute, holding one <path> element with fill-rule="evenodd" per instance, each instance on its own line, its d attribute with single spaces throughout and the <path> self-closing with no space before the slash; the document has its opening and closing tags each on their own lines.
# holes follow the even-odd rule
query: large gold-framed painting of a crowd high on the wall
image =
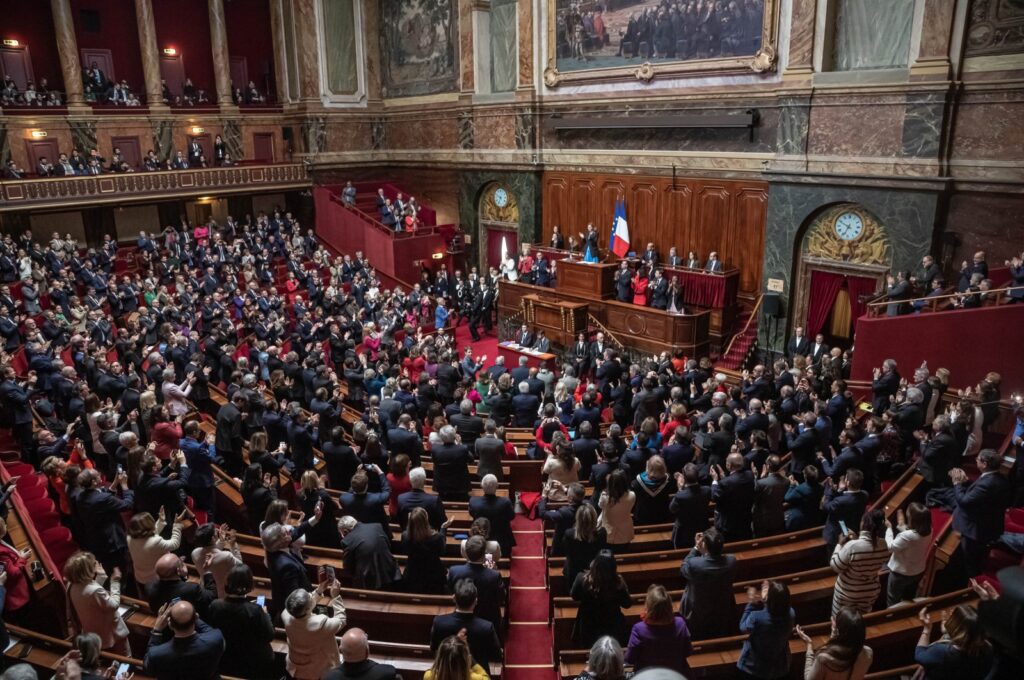
<svg viewBox="0 0 1024 680">
<path fill-rule="evenodd" d="M 779 0 L 548 0 L 548 87 L 775 68 Z"/>
</svg>

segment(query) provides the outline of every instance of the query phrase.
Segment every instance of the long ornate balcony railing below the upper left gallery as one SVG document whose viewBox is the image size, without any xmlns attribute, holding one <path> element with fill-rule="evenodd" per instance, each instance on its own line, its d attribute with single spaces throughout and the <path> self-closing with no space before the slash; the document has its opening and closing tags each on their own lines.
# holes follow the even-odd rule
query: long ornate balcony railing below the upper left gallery
<svg viewBox="0 0 1024 680">
<path fill-rule="evenodd" d="M 76 204 L 138 203 L 152 199 L 306 188 L 302 163 L 130 172 L 0 181 L 0 212 Z"/>
</svg>

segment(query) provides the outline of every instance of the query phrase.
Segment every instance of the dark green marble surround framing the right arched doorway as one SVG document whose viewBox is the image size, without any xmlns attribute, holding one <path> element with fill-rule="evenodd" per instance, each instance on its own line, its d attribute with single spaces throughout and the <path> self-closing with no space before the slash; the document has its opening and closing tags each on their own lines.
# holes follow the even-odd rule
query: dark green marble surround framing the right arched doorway
<svg viewBox="0 0 1024 680">
<path fill-rule="evenodd" d="M 911 269 L 931 251 L 938 201 L 938 190 L 769 180 L 763 281 L 766 285 L 769 279 L 784 282 L 783 316 L 788 315 L 788 305 L 794 299 L 795 253 L 804 230 L 822 208 L 837 203 L 855 203 L 866 208 L 886 229 L 893 250 L 893 266 Z M 792 320 L 785 318 L 777 324 L 774 334 L 762 325 L 759 342 L 780 349 L 791 323 Z"/>
</svg>

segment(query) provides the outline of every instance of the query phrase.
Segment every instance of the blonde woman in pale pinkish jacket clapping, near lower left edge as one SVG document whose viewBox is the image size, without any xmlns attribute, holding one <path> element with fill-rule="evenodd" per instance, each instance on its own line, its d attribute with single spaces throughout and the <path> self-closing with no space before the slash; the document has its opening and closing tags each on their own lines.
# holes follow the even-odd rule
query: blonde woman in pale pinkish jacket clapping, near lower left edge
<svg viewBox="0 0 1024 680">
<path fill-rule="evenodd" d="M 77 552 L 65 563 L 63 578 L 68 584 L 68 610 L 72 619 L 72 634 L 95 633 L 103 649 L 125 656 L 131 655 L 128 627 L 118 613 L 121 605 L 121 569 L 111 572 L 110 591 L 103 567 L 90 552 Z"/>
</svg>

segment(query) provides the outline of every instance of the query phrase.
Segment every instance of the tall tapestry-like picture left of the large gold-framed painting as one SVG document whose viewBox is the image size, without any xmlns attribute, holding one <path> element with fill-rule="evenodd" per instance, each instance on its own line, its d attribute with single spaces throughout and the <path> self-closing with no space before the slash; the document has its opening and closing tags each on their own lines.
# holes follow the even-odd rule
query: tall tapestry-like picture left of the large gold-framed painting
<svg viewBox="0 0 1024 680">
<path fill-rule="evenodd" d="M 382 0 L 380 43 L 385 97 L 459 89 L 457 0 Z"/>
</svg>

